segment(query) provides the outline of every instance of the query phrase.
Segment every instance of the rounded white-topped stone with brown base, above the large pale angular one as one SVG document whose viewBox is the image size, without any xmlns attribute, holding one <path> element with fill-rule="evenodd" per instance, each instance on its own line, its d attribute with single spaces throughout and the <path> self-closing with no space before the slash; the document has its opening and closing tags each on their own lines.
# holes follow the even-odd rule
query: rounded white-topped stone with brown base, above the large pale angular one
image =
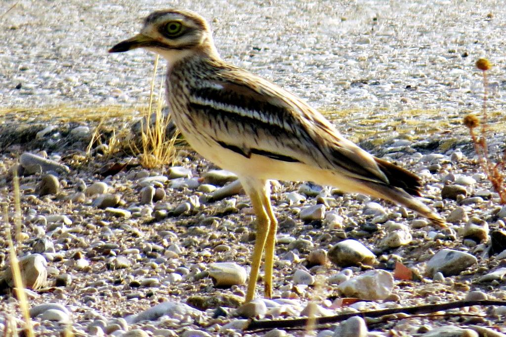
<svg viewBox="0 0 506 337">
<path fill-rule="evenodd" d="M 334 245 L 328 251 L 328 259 L 340 267 L 358 264 L 372 265 L 376 256 L 357 240 L 347 239 Z"/>
</svg>

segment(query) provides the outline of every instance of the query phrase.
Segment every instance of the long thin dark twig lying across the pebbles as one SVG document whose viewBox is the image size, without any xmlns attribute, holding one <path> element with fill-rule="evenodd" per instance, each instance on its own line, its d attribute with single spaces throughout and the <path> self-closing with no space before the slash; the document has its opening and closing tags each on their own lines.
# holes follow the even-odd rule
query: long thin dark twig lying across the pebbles
<svg viewBox="0 0 506 337">
<path fill-rule="evenodd" d="M 450 310 L 457 309 L 462 307 L 471 307 L 471 306 L 504 306 L 506 305 L 506 301 L 494 301 L 494 300 L 477 300 L 477 301 L 456 301 L 442 304 L 428 304 L 423 306 L 415 306 L 415 307 L 405 307 L 405 308 L 392 308 L 392 309 L 382 309 L 382 310 L 374 310 L 374 311 L 366 311 L 366 312 L 354 312 L 347 313 L 341 315 L 334 316 L 325 316 L 318 317 L 315 320 L 316 325 L 327 324 L 327 323 L 336 323 L 347 320 L 353 316 L 361 316 L 361 317 L 381 317 L 384 315 L 392 315 L 398 313 L 405 313 L 411 315 L 419 315 L 419 314 L 429 314 L 436 311 L 442 310 Z M 307 318 L 297 318 L 297 319 L 280 319 L 280 320 L 251 320 L 249 324 L 244 328 L 244 330 L 257 330 L 257 329 L 282 329 L 289 328 L 295 326 L 304 326 L 308 322 Z"/>
</svg>

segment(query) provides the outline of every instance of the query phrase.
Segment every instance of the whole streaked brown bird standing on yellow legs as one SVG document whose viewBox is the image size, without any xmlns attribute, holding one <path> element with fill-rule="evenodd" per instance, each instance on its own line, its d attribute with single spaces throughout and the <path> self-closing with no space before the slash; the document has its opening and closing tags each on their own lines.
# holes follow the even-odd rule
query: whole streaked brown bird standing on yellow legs
<svg viewBox="0 0 506 337">
<path fill-rule="evenodd" d="M 258 224 L 246 301 L 255 296 L 264 251 L 265 291 L 271 296 L 277 221 L 268 179 L 311 180 L 388 199 L 444 226 L 411 196 L 420 195 L 418 177 L 369 155 L 292 93 L 223 61 L 198 14 L 154 12 L 140 34 L 110 52 L 138 47 L 167 60 L 167 104 L 187 141 L 204 158 L 235 172 L 251 198 Z"/>
</svg>

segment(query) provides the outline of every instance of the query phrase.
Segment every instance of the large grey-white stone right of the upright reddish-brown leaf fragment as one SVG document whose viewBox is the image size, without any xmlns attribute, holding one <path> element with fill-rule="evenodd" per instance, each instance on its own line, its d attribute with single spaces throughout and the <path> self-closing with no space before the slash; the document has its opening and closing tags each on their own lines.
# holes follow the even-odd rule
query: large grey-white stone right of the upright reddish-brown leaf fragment
<svg viewBox="0 0 506 337">
<path fill-rule="evenodd" d="M 458 275 L 477 262 L 476 257 L 469 253 L 442 249 L 427 262 L 425 274 L 431 277 L 440 271 L 444 276 Z"/>
</svg>

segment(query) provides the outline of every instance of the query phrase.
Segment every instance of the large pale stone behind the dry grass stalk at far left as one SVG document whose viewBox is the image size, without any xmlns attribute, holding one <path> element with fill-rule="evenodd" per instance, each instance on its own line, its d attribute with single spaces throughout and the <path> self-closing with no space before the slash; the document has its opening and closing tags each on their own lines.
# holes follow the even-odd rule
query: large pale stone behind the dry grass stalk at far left
<svg viewBox="0 0 506 337">
<path fill-rule="evenodd" d="M 47 266 L 46 259 L 40 254 L 31 254 L 20 258 L 19 269 L 24 285 L 32 290 L 45 287 L 48 279 Z M 10 287 L 14 287 L 14 279 L 10 267 L 2 273 L 2 279 Z"/>
</svg>

